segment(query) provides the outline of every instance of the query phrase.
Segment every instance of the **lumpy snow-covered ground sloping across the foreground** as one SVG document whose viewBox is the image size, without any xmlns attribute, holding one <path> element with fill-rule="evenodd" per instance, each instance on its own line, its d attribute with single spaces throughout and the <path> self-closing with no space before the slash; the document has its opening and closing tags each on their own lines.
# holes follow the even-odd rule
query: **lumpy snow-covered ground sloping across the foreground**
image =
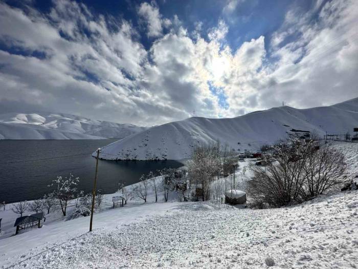
<svg viewBox="0 0 358 269">
<path fill-rule="evenodd" d="M 334 146 L 346 155 L 347 177 L 355 176 L 358 143 Z M 239 185 L 250 174 L 240 176 L 248 162 L 241 164 Z M 286 208 L 252 210 L 173 197 L 154 203 L 151 192 L 146 204 L 131 201 L 95 214 L 92 233 L 89 217 L 82 217 L 45 222 L 41 229 L 0 240 L 0 268 L 262 268 L 267 258 L 276 268 L 355 268 L 357 195 L 338 192 Z"/>
</svg>

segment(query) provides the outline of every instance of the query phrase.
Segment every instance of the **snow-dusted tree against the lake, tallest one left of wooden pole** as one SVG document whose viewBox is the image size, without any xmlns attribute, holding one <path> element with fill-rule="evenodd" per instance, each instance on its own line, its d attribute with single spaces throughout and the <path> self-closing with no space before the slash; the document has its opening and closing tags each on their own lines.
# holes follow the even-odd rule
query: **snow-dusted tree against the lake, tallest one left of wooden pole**
<svg viewBox="0 0 358 269">
<path fill-rule="evenodd" d="M 66 216 L 66 208 L 68 202 L 74 198 L 74 194 L 77 190 L 77 184 L 79 177 L 74 177 L 71 173 L 69 177 L 62 178 L 58 176 L 57 179 L 53 180 L 49 187 L 55 187 L 54 194 L 56 195 L 59 204 L 61 206 L 62 215 Z"/>
</svg>

